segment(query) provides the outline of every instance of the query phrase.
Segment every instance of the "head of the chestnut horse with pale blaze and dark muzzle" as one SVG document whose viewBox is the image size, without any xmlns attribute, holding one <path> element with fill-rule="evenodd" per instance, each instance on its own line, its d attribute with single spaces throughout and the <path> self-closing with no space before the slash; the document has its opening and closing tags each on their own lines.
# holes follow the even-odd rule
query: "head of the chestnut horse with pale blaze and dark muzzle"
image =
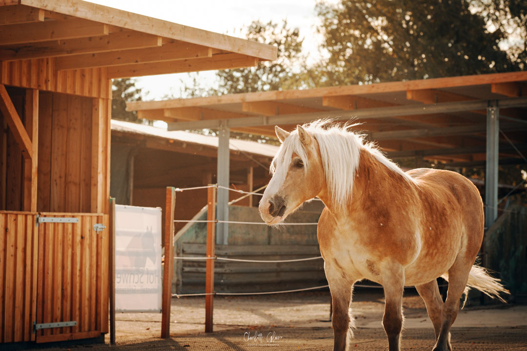
<svg viewBox="0 0 527 351">
<path fill-rule="evenodd" d="M 317 196 L 324 183 L 324 171 L 318 143 L 305 128 L 291 133 L 275 127 L 282 143 L 272 160 L 272 178 L 260 201 L 260 216 L 268 224 L 277 224 L 306 200 Z"/>
</svg>

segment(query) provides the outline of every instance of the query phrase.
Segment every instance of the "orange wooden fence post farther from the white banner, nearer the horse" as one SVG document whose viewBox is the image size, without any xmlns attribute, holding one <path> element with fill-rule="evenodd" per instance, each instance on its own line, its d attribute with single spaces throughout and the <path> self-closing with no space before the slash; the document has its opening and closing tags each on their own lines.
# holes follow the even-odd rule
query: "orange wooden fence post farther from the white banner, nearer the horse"
<svg viewBox="0 0 527 351">
<path fill-rule="evenodd" d="M 210 185 L 210 184 L 209 184 Z M 216 220 L 216 187 L 210 187 L 207 190 L 207 220 Z M 216 223 L 207 223 L 207 257 L 214 257 L 214 228 Z M 207 269 L 205 277 L 205 293 L 214 293 L 214 260 L 207 259 Z M 212 317 L 214 312 L 214 295 L 205 295 L 205 333 L 212 333 Z"/>
</svg>

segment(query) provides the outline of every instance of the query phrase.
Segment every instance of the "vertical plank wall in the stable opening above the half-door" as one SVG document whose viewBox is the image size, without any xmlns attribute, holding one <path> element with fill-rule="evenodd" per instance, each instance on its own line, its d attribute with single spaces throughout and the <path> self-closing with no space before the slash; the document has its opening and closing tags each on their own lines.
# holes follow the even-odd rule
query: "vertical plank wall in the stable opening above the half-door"
<svg viewBox="0 0 527 351">
<path fill-rule="evenodd" d="M 108 213 L 110 183 L 106 182 L 106 174 L 110 171 L 110 150 L 106 122 L 110 120 L 109 102 L 108 99 L 66 94 L 40 94 L 39 212 Z M 97 124 L 93 123 L 94 119 Z M 93 134 L 97 135 L 97 145 L 93 145 Z M 92 169 L 94 164 L 99 175 L 96 177 Z M 96 206 L 92 204 L 94 199 Z"/>
</svg>

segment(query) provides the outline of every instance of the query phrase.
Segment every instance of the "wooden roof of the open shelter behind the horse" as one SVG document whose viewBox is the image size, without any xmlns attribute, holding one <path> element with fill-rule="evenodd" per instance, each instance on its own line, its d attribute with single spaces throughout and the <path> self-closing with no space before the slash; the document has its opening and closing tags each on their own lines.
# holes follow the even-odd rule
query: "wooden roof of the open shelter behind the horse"
<svg viewBox="0 0 527 351">
<path fill-rule="evenodd" d="M 499 107 L 502 159 L 527 149 L 527 72 L 406 82 L 129 102 L 129 111 L 169 123 L 169 130 L 218 128 L 274 136 L 318 118 L 356 119 L 388 156 L 484 164 L 486 114 Z M 507 140 L 509 139 L 509 141 Z M 514 144 L 514 146 L 512 144 Z M 511 160 L 509 160 L 511 161 Z"/>
</svg>

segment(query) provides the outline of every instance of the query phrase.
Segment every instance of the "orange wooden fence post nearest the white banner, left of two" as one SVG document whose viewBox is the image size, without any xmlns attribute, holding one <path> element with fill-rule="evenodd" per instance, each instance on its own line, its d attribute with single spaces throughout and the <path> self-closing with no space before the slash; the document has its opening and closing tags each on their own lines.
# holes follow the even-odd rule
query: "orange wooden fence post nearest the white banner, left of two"
<svg viewBox="0 0 527 351">
<path fill-rule="evenodd" d="M 163 267 L 163 297 L 161 303 L 161 338 L 170 337 L 170 302 L 172 300 L 172 271 L 174 266 L 174 207 L 175 188 L 167 187 L 165 203 L 165 258 Z"/>
</svg>

